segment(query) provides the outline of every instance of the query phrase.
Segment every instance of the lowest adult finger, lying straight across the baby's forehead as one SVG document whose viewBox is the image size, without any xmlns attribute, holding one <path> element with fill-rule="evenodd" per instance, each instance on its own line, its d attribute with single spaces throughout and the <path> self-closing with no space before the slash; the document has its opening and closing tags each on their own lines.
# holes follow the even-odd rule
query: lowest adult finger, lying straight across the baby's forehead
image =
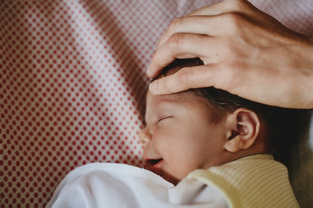
<svg viewBox="0 0 313 208">
<path fill-rule="evenodd" d="M 216 71 L 218 72 L 214 65 L 185 67 L 174 74 L 154 80 L 150 83 L 149 90 L 152 94 L 162 95 L 181 92 L 190 88 L 214 86 L 215 81 L 210 77 L 212 74 L 216 74 Z"/>
</svg>

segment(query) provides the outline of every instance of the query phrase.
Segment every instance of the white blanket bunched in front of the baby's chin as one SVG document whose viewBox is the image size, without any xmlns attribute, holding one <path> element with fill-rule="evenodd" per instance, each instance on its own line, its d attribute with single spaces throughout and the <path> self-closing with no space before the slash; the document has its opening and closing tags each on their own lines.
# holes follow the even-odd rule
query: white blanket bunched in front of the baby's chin
<svg viewBox="0 0 313 208">
<path fill-rule="evenodd" d="M 227 208 L 200 182 L 173 186 L 145 169 L 113 163 L 76 168 L 59 184 L 46 208 Z"/>
</svg>

